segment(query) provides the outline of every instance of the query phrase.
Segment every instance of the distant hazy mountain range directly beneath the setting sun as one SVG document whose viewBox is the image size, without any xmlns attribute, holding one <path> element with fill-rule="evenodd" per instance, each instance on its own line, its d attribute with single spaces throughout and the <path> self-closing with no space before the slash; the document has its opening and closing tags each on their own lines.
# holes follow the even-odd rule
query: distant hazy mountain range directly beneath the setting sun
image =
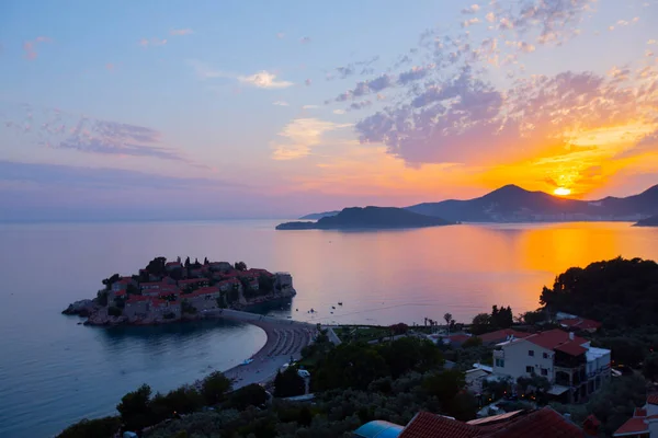
<svg viewBox="0 0 658 438">
<path fill-rule="evenodd" d="M 474 199 L 423 203 L 405 209 L 452 222 L 637 221 L 658 215 L 658 185 L 638 195 L 597 200 L 569 199 L 506 185 Z"/>
</svg>

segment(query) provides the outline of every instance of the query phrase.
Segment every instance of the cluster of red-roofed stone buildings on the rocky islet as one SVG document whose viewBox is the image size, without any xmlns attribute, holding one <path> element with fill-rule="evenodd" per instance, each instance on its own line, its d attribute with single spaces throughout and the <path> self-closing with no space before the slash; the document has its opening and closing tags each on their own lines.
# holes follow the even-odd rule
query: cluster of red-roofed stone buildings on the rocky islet
<svg viewBox="0 0 658 438">
<path fill-rule="evenodd" d="M 269 279 L 272 290 L 259 293 L 262 277 Z M 128 322 L 179 320 L 186 310 L 195 313 L 248 304 L 247 290 L 251 296 L 294 295 L 293 279 L 287 273 L 272 274 L 256 268 L 238 270 L 227 262 L 188 267 L 180 262 L 169 262 L 161 276 L 140 269 L 138 276 L 120 277 L 112 283 L 107 308 L 123 309 L 122 316 Z"/>
</svg>

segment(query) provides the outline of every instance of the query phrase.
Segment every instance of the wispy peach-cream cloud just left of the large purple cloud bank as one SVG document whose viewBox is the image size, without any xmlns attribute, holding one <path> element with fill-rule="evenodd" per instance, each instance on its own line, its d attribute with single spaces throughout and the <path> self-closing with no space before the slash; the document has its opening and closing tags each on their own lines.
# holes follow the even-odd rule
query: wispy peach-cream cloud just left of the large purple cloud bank
<svg viewBox="0 0 658 438">
<path fill-rule="evenodd" d="M 279 132 L 284 141 L 272 141 L 274 160 L 295 160 L 310 154 L 313 147 L 322 142 L 326 132 L 349 127 L 318 118 L 295 118 Z"/>
</svg>

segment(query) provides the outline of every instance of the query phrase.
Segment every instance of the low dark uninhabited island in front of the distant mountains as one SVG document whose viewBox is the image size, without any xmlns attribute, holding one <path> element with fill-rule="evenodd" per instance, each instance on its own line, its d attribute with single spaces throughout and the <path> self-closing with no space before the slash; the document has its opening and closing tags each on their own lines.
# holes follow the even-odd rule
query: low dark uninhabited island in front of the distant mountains
<svg viewBox="0 0 658 438">
<path fill-rule="evenodd" d="M 344 229 L 392 229 L 447 226 L 454 222 L 419 215 L 395 207 L 352 207 L 344 208 L 336 216 L 319 219 L 317 222 L 286 222 L 276 226 L 277 230 L 344 230 Z"/>
</svg>

